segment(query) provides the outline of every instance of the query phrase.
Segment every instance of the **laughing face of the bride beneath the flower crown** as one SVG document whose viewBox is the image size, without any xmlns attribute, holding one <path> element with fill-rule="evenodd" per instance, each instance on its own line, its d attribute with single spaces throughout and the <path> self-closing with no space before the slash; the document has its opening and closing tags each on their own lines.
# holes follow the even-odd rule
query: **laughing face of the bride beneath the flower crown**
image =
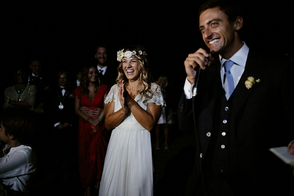
<svg viewBox="0 0 294 196">
<path fill-rule="evenodd" d="M 138 70 L 138 58 L 135 56 L 132 56 L 131 58 L 123 58 L 123 72 L 129 81 L 138 80 L 141 74 Z"/>
</svg>

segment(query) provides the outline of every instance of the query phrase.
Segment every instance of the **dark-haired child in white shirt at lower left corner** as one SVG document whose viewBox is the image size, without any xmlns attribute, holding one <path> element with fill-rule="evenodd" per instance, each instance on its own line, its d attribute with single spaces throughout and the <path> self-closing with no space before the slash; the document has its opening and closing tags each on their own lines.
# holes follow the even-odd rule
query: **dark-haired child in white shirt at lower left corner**
<svg viewBox="0 0 294 196">
<path fill-rule="evenodd" d="M 0 142 L 6 144 L 0 151 L 0 182 L 8 192 L 27 192 L 36 172 L 36 155 L 29 146 L 34 128 L 32 111 L 9 109 L 3 115 Z"/>
</svg>

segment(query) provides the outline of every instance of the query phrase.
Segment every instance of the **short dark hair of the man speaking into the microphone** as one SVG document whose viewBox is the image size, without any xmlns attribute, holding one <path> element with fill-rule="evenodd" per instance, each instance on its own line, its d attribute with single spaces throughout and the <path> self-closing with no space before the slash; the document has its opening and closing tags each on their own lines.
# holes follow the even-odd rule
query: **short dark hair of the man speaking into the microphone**
<svg viewBox="0 0 294 196">
<path fill-rule="evenodd" d="M 233 22 L 236 20 L 238 16 L 243 17 L 243 12 L 240 6 L 240 2 L 232 1 L 232 0 L 209 0 L 203 3 L 199 7 L 198 14 L 204 12 L 206 9 L 216 8 L 218 7 L 221 11 L 223 11 L 228 16 L 228 21 Z"/>
</svg>

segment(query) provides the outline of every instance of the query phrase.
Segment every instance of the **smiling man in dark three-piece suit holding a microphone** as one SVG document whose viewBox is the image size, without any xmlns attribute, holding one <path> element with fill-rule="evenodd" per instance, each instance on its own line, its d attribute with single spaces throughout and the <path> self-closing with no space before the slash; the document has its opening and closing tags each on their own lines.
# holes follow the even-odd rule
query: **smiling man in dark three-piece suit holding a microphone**
<svg viewBox="0 0 294 196">
<path fill-rule="evenodd" d="M 249 50 L 238 33 L 242 26 L 233 3 L 200 7 L 199 30 L 210 51 L 200 48 L 186 58 L 178 112 L 180 129 L 195 130 L 197 138 L 188 195 L 294 192 L 292 169 L 269 152 L 294 138 L 293 67 Z"/>
</svg>

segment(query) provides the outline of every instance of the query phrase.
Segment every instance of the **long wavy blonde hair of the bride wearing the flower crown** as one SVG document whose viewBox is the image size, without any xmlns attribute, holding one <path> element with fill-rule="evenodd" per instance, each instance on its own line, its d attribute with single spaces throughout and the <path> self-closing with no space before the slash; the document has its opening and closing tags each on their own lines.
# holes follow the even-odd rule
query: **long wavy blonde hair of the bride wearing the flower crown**
<svg viewBox="0 0 294 196">
<path fill-rule="evenodd" d="M 140 50 L 146 51 L 144 47 L 140 45 L 134 45 L 127 47 L 123 52 L 136 51 L 136 55 L 134 56 L 138 59 L 138 70 L 140 71 L 141 84 L 141 88 L 138 90 L 138 94 L 141 96 L 140 99 L 144 98 L 143 103 L 145 104 L 147 100 L 151 99 L 153 96 L 153 92 L 151 90 L 151 83 L 153 82 L 153 78 L 151 73 L 149 72 L 149 61 L 147 60 L 146 55 L 139 55 Z M 126 82 L 126 85 L 128 85 L 129 80 L 123 72 L 123 61 L 119 62 L 117 71 L 119 75 L 116 79 L 116 83 L 119 84 L 120 80 L 124 80 Z M 159 85 L 156 82 L 155 85 L 157 89 Z"/>
</svg>

